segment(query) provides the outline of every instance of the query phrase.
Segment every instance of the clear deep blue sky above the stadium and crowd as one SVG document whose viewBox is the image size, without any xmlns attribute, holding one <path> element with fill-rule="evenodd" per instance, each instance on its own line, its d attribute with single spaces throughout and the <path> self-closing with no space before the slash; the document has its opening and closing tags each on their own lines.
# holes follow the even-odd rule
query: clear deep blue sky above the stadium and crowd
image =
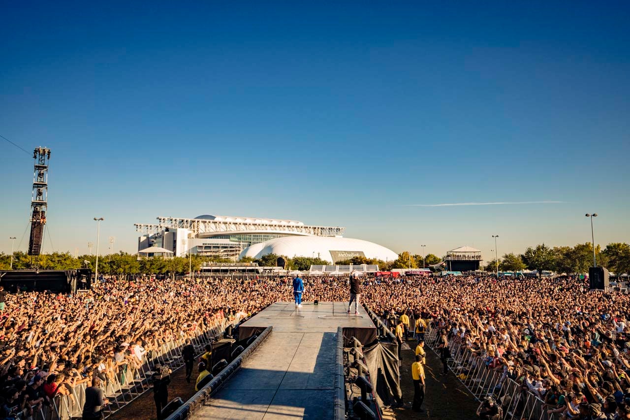
<svg viewBox="0 0 630 420">
<path fill-rule="evenodd" d="M 549 3 L 5 3 L 0 134 L 52 149 L 46 252 L 207 213 L 489 257 L 595 211 L 628 242 L 630 3 Z M 33 160 L 0 156 L 9 252 Z M 559 202 L 408 206 L 525 201 Z"/>
</svg>

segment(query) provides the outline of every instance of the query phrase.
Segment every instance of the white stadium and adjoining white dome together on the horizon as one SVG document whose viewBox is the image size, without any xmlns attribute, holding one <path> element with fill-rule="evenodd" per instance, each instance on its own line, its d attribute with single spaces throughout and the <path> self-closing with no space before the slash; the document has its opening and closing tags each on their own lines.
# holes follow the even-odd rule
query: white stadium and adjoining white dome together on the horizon
<svg viewBox="0 0 630 420">
<path fill-rule="evenodd" d="M 375 243 L 343 238 L 345 228 L 286 219 L 203 214 L 193 219 L 159 217 L 156 224 L 135 223 L 135 228 L 143 233 L 138 238 L 139 251 L 161 247 L 176 257 L 192 253 L 236 261 L 239 257 L 260 258 L 273 253 L 287 257 L 319 256 L 332 262 L 355 255 L 383 260 L 397 257 Z M 296 241 L 287 245 L 284 239 L 292 237 Z M 280 239 L 283 241 L 277 242 Z"/>
</svg>

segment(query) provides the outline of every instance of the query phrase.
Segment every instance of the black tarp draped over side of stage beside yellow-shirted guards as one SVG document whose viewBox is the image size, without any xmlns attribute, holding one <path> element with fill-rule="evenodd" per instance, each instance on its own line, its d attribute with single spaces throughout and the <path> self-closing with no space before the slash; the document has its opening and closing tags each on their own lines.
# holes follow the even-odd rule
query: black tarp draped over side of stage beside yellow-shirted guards
<svg viewBox="0 0 630 420">
<path fill-rule="evenodd" d="M 367 368 L 370 371 L 370 383 L 374 387 L 374 397 L 380 407 L 403 400 L 403 391 L 399 384 L 398 344 L 375 342 L 363 347 Z"/>
</svg>

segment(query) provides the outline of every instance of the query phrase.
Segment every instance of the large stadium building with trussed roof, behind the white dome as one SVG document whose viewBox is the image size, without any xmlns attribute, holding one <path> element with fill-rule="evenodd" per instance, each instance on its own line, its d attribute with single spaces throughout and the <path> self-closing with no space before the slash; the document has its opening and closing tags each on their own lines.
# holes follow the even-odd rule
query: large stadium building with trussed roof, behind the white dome
<svg viewBox="0 0 630 420">
<path fill-rule="evenodd" d="M 311 226 L 301 221 L 244 218 L 203 214 L 194 219 L 157 218 L 157 224 L 135 223 L 138 250 L 151 246 L 173 252 L 175 257 L 192 254 L 237 260 L 245 248 L 285 236 L 343 235 L 338 226 Z"/>
</svg>

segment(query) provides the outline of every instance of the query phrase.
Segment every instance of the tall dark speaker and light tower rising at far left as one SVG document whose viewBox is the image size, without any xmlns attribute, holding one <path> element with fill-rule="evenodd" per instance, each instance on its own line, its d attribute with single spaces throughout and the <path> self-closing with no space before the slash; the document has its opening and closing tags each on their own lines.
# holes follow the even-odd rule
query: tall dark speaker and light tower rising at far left
<svg viewBox="0 0 630 420">
<path fill-rule="evenodd" d="M 48 161 L 50 149 L 36 148 L 33 151 L 35 173 L 33 175 L 33 197 L 31 198 L 31 236 L 28 240 L 28 255 L 40 255 L 43 228 L 48 211 Z"/>
</svg>

